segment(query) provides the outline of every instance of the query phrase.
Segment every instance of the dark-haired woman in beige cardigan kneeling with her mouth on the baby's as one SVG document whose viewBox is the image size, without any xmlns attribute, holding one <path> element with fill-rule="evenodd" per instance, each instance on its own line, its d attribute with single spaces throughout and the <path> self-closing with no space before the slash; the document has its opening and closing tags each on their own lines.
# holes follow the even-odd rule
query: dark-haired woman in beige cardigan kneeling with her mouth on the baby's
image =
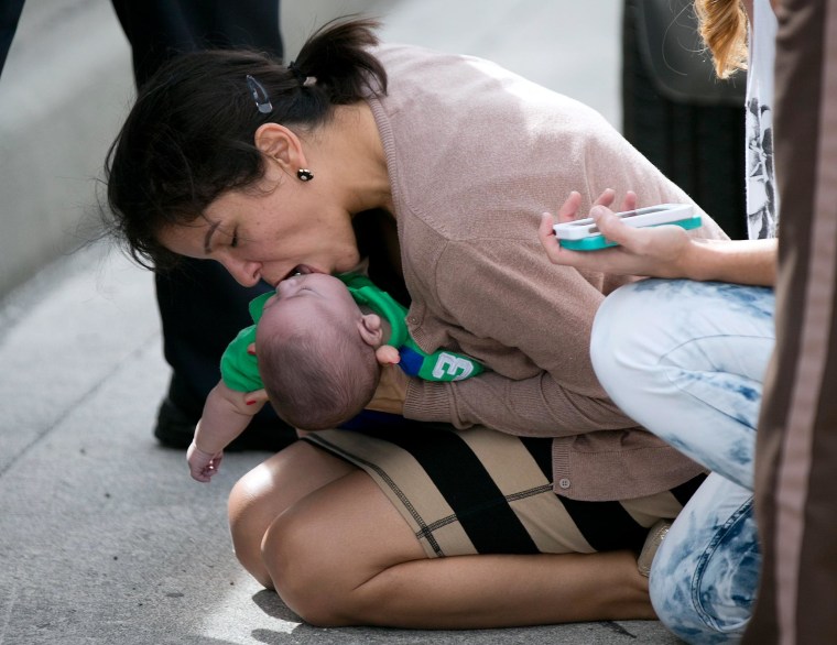
<svg viewBox="0 0 837 645">
<path fill-rule="evenodd" d="M 112 225 L 139 262 L 215 260 L 276 286 L 368 260 L 424 351 L 488 368 L 385 370 L 370 407 L 390 416 L 307 434 L 236 484 L 236 555 L 316 625 L 653 619 L 638 554 L 706 472 L 594 374 L 594 315 L 635 278 L 552 264 L 537 228 L 573 189 L 583 209 L 691 200 L 589 108 L 374 28 L 329 24 L 286 67 L 184 55 L 109 155 Z"/>
</svg>

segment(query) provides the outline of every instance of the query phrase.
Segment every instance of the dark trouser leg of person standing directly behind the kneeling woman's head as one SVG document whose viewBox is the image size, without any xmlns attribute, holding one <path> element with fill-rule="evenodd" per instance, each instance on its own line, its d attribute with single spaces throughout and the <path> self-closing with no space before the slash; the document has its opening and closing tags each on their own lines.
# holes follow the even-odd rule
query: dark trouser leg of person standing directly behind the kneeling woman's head
<svg viewBox="0 0 837 645">
<path fill-rule="evenodd" d="M 131 43 L 137 85 L 167 58 L 205 47 L 250 46 L 282 55 L 279 0 L 112 0 Z M 248 303 L 267 291 L 244 288 L 215 262 L 186 260 L 157 275 L 165 359 L 173 374 L 160 408 L 155 436 L 188 446 L 204 400 L 220 376 L 227 343 L 252 321 Z M 265 406 L 233 447 L 278 449 L 295 438 Z"/>
</svg>

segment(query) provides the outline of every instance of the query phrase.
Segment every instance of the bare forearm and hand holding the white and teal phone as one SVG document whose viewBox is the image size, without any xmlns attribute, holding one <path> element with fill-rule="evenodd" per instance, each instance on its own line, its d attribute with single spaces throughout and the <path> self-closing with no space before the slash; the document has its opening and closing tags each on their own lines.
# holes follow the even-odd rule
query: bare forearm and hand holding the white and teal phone
<svg viewBox="0 0 837 645">
<path fill-rule="evenodd" d="M 572 221 L 579 200 L 577 193 L 572 194 L 558 211 L 558 219 Z M 604 206 L 590 209 L 590 217 L 606 238 L 620 245 L 601 251 L 564 249 L 552 229 L 552 215 L 545 212 L 539 238 L 554 264 L 623 275 L 761 286 L 772 286 L 775 282 L 775 240 L 700 240 L 675 226 L 637 229 L 620 221 Z"/>
</svg>

